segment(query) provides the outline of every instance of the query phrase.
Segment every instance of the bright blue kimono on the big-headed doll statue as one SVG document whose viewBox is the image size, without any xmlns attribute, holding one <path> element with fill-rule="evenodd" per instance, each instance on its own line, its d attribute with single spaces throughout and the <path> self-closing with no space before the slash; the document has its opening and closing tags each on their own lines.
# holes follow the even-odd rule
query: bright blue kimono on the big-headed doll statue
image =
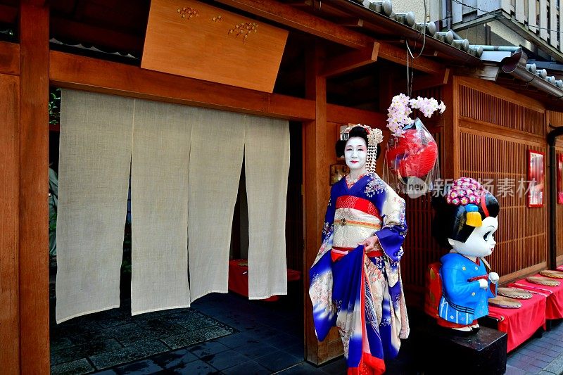
<svg viewBox="0 0 563 375">
<path fill-rule="evenodd" d="M 450 323 L 470 325 L 488 314 L 488 298 L 495 298 L 496 284 L 488 279 L 483 262 L 473 262 L 459 253 L 448 253 L 440 259 L 443 295 L 438 314 Z M 478 279 L 487 280 L 487 288 Z"/>
</svg>

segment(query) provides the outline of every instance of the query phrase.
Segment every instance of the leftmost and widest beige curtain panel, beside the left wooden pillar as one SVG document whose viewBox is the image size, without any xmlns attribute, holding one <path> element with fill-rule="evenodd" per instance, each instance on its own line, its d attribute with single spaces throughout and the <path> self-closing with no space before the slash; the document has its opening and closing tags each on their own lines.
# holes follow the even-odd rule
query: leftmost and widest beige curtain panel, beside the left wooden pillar
<svg viewBox="0 0 563 375">
<path fill-rule="evenodd" d="M 134 101 L 63 89 L 56 321 L 119 307 Z"/>
</svg>

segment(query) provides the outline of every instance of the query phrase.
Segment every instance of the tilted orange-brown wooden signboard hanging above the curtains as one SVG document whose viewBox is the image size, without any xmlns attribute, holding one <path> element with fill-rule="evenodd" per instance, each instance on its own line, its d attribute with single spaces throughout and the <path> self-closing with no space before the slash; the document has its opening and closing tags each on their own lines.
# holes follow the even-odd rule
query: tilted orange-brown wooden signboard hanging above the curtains
<svg viewBox="0 0 563 375">
<path fill-rule="evenodd" d="M 288 32 L 193 0 L 152 0 L 141 68 L 272 92 Z"/>
</svg>

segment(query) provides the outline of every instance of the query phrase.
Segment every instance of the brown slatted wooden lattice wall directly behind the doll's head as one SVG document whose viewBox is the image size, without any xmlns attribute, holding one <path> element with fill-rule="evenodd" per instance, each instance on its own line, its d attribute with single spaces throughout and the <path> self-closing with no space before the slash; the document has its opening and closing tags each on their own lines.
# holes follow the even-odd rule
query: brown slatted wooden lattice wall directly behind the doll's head
<svg viewBox="0 0 563 375">
<path fill-rule="evenodd" d="M 545 262 L 546 206 L 526 207 L 526 150 L 545 151 L 545 147 L 466 132 L 460 134 L 460 147 L 465 151 L 461 153 L 461 174 L 481 179 L 500 203 L 497 246 L 489 258 L 491 267 L 502 276 Z"/>
</svg>

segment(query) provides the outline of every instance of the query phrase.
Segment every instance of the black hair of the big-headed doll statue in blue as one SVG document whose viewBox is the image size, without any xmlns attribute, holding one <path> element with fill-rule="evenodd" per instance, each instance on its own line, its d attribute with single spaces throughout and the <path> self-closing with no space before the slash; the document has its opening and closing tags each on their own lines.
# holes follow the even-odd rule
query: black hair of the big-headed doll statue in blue
<svg viewBox="0 0 563 375">
<path fill-rule="evenodd" d="M 498 216 L 500 206 L 493 194 L 486 193 L 485 205 L 489 216 Z M 481 202 L 476 203 L 476 206 L 479 208 L 481 220 L 485 219 L 486 215 L 481 207 Z M 465 224 L 467 215 L 464 205 L 450 205 L 445 201 L 445 196 L 440 195 L 432 198 L 432 207 L 435 210 L 434 219 L 432 220 L 432 235 L 440 246 L 448 249 L 452 248 L 448 239 L 460 242 L 467 241 L 475 227 Z"/>
</svg>

